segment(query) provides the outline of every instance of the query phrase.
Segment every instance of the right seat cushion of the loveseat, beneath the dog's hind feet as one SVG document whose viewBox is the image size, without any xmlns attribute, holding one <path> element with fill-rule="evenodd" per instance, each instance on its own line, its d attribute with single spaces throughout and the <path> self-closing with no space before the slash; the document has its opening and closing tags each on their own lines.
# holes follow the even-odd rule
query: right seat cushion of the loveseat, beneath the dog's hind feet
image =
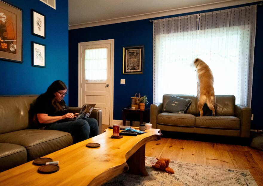
<svg viewBox="0 0 263 186">
<path fill-rule="evenodd" d="M 196 117 L 195 127 L 240 130 L 240 119 L 234 116 Z"/>
</svg>

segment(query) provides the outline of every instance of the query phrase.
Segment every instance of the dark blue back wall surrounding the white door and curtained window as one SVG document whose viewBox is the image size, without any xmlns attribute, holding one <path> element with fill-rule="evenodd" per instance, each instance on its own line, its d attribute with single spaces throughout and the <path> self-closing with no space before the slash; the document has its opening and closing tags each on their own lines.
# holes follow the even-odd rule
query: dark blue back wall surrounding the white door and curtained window
<svg viewBox="0 0 263 186">
<path fill-rule="evenodd" d="M 246 6 L 242 5 L 242 6 Z M 237 7 L 237 6 L 236 6 Z M 228 7 L 233 8 L 233 7 Z M 226 9 L 226 8 L 225 8 Z M 219 9 L 217 9 L 219 10 Z M 210 12 L 211 10 L 194 12 Z M 188 14 L 194 14 L 188 13 Z M 186 14 L 176 15 L 182 16 Z M 263 10 L 262 6 L 257 8 L 257 30 L 254 61 L 253 97 L 252 97 L 252 121 L 251 129 L 262 129 L 260 120 L 262 103 L 262 46 L 263 46 Z M 173 16 L 166 16 L 173 17 Z M 165 17 L 165 18 L 166 18 Z M 164 18 L 164 17 L 162 17 Z M 157 18 L 155 18 L 157 19 Z M 152 31 L 153 23 L 149 19 L 131 21 L 118 24 L 103 25 L 69 30 L 69 86 L 71 89 L 69 103 L 78 106 L 78 43 L 86 41 L 97 41 L 114 39 L 114 120 L 122 120 L 122 109 L 130 107 L 131 98 L 136 92 L 142 96 L 147 95 L 149 105 L 153 103 L 152 86 Z M 123 47 L 144 45 L 144 69 L 143 74 L 123 74 Z M 120 79 L 126 79 L 126 84 L 120 84 Z M 175 92 L 176 94 L 176 92 Z M 148 108 L 149 108 L 148 105 Z M 146 106 L 147 107 L 147 106 Z"/>
</svg>

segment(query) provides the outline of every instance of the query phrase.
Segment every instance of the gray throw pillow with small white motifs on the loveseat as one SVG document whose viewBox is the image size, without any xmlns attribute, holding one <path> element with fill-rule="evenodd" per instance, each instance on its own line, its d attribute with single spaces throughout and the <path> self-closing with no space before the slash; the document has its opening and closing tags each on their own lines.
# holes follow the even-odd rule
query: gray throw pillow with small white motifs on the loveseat
<svg viewBox="0 0 263 186">
<path fill-rule="evenodd" d="M 171 96 L 169 101 L 163 107 L 163 112 L 184 113 L 192 100 L 181 97 Z"/>
</svg>

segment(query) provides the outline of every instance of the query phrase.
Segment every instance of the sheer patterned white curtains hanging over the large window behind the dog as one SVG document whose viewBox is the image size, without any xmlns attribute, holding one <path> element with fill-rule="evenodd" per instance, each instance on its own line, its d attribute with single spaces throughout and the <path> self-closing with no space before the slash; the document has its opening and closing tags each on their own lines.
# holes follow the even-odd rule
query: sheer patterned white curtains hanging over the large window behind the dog
<svg viewBox="0 0 263 186">
<path fill-rule="evenodd" d="M 214 75 L 216 95 L 251 106 L 256 5 L 154 21 L 153 97 L 197 94 L 195 58 Z"/>
</svg>

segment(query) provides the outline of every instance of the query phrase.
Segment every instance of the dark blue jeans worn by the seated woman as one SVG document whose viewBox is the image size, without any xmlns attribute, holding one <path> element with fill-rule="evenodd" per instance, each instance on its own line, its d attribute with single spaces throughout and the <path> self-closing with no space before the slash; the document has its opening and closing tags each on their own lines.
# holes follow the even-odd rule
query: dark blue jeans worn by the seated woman
<svg viewBox="0 0 263 186">
<path fill-rule="evenodd" d="M 47 130 L 57 130 L 68 132 L 73 137 L 73 143 L 81 142 L 85 139 L 99 134 L 98 122 L 94 118 L 75 120 L 67 122 L 56 122 L 46 126 Z"/>
</svg>

